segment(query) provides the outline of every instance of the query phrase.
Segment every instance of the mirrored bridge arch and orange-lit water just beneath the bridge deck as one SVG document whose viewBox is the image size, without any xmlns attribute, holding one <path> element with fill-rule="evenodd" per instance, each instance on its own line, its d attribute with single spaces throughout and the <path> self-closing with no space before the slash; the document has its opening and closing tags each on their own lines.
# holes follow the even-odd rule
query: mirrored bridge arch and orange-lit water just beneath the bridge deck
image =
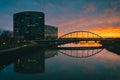
<svg viewBox="0 0 120 80">
<path fill-rule="evenodd" d="M 103 50 L 102 44 L 95 41 L 80 41 L 58 46 L 60 53 L 75 58 L 87 58 Z"/>
</svg>

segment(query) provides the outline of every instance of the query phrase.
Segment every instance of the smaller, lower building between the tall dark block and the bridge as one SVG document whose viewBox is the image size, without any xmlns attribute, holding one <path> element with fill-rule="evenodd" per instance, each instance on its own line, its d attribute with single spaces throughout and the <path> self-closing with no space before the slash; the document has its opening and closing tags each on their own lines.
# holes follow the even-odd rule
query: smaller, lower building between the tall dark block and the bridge
<svg viewBox="0 0 120 80">
<path fill-rule="evenodd" d="M 45 39 L 58 38 L 58 28 L 50 25 L 45 25 Z"/>
</svg>

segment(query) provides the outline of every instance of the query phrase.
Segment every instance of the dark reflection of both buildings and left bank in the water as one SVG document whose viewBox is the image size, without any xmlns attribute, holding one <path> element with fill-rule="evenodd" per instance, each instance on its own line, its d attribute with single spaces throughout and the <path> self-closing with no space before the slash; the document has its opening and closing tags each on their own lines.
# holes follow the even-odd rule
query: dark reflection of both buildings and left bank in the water
<svg viewBox="0 0 120 80">
<path fill-rule="evenodd" d="M 36 50 L 36 49 L 35 49 Z M 24 53 L 24 54 L 23 54 Z M 0 70 L 10 64 L 14 64 L 14 71 L 17 73 L 33 74 L 45 72 L 45 59 L 58 55 L 57 50 L 29 50 L 25 52 L 9 53 L 0 55 Z"/>
</svg>

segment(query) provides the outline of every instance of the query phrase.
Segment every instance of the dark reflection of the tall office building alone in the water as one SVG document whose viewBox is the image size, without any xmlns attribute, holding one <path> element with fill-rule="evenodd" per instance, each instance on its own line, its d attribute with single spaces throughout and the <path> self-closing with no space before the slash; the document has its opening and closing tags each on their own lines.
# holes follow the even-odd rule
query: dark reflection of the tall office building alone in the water
<svg viewBox="0 0 120 80">
<path fill-rule="evenodd" d="M 19 73 L 42 73 L 45 71 L 44 50 L 22 56 L 14 63 L 14 71 Z"/>
</svg>

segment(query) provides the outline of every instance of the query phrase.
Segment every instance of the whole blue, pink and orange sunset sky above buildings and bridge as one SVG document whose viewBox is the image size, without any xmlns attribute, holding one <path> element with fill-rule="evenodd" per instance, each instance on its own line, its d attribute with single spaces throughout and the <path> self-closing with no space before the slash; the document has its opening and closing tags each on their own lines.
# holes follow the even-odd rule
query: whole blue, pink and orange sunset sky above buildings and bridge
<svg viewBox="0 0 120 80">
<path fill-rule="evenodd" d="M 84 30 L 120 37 L 120 0 L 0 0 L 0 29 L 13 30 L 13 14 L 22 11 L 44 12 L 59 35 Z"/>
</svg>

